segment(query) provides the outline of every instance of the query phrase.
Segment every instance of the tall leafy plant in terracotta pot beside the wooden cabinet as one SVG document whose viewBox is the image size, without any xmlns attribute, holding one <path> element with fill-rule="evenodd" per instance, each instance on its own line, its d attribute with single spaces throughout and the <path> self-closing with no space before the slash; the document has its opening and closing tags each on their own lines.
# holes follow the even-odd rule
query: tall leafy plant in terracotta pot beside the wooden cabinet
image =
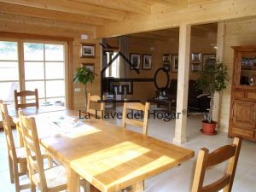
<svg viewBox="0 0 256 192">
<path fill-rule="evenodd" d="M 215 61 L 212 65 L 205 65 L 196 81 L 197 89 L 204 91 L 210 97 L 210 108 L 208 113 L 204 113 L 202 121 L 202 131 L 207 135 L 216 133 L 217 122 L 212 120 L 213 96 L 215 92 L 221 92 L 226 89 L 228 82 L 227 67 L 223 62 Z"/>
</svg>

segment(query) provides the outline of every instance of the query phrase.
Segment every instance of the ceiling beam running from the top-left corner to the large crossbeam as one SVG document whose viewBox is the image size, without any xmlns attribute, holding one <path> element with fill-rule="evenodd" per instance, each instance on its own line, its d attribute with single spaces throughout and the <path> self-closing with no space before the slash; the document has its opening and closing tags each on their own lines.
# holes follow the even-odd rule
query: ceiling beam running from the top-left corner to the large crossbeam
<svg viewBox="0 0 256 192">
<path fill-rule="evenodd" d="M 90 4 L 84 4 L 79 2 L 70 2 L 67 0 L 58 1 L 45 1 L 45 0 L 0 0 L 3 3 L 13 3 L 17 5 L 23 5 L 38 9 L 49 9 L 54 11 L 61 11 L 70 14 L 94 16 L 110 20 L 124 20 L 125 12 L 117 11 L 113 9 L 106 9 Z"/>
</svg>

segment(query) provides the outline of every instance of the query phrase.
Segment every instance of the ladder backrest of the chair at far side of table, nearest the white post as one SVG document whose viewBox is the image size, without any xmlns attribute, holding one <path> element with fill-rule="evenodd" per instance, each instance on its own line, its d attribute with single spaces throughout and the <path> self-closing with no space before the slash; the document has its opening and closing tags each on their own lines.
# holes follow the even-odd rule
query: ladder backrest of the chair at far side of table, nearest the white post
<svg viewBox="0 0 256 192">
<path fill-rule="evenodd" d="M 143 134 L 148 135 L 148 110 L 150 108 L 150 103 L 146 102 L 143 105 L 140 102 L 124 102 L 123 108 L 123 119 L 122 119 L 122 126 L 126 128 L 126 125 L 134 125 L 143 128 Z M 131 119 L 127 117 L 127 109 L 143 111 L 143 121 L 139 121 L 137 119 Z M 133 117 L 132 117 L 133 118 Z"/>
</svg>

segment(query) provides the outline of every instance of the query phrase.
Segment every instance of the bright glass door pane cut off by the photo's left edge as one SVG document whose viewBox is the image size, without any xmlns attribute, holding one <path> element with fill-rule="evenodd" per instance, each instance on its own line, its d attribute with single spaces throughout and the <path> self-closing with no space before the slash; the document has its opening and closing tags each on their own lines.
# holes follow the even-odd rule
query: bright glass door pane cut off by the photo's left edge
<svg viewBox="0 0 256 192">
<path fill-rule="evenodd" d="M 0 99 L 14 102 L 14 90 L 20 90 L 18 43 L 0 41 Z"/>
</svg>

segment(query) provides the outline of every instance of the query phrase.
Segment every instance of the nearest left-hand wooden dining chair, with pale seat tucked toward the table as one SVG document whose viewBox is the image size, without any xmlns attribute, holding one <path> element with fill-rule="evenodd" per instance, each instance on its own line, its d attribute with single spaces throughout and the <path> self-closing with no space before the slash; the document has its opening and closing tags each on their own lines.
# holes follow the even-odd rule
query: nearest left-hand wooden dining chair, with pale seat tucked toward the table
<svg viewBox="0 0 256 192">
<path fill-rule="evenodd" d="M 26 117 L 19 111 L 22 136 L 26 148 L 26 160 L 28 164 L 31 191 L 38 188 L 41 192 L 57 192 L 67 189 L 67 173 L 63 166 L 54 166 L 44 169 L 44 161 L 39 147 L 38 131 L 35 119 Z M 89 189 L 88 183 L 82 179 L 81 186 Z"/>
</svg>

